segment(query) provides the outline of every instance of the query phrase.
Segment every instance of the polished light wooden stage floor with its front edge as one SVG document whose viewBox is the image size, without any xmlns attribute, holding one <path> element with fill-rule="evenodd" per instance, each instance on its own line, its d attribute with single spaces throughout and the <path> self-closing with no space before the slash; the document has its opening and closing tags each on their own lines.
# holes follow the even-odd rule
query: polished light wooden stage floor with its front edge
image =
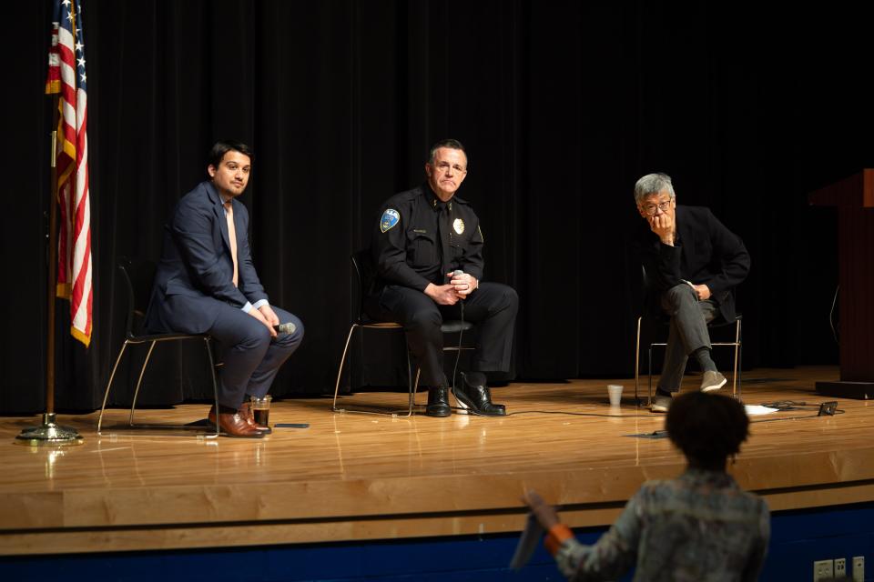
<svg viewBox="0 0 874 582">
<path fill-rule="evenodd" d="M 753 370 L 744 401 L 831 400 L 813 386 L 837 376 L 834 367 Z M 625 386 L 618 408 L 607 404 L 612 382 Z M 335 414 L 327 398 L 287 399 L 270 421 L 310 427 L 263 440 L 124 429 L 100 437 L 93 413 L 59 416 L 85 444 L 27 447 L 15 436 L 36 416 L 2 418 L 0 555 L 512 532 L 523 527 L 526 487 L 564 506 L 570 525 L 601 526 L 643 481 L 682 470 L 666 438 L 635 437 L 661 430 L 664 416 L 634 406 L 633 379 L 513 383 L 493 396 L 513 414 L 392 418 Z M 405 401 L 375 392 L 342 399 Z M 741 487 L 775 511 L 874 499 L 874 404 L 838 403 L 838 416 L 818 417 L 815 407 L 754 416 L 731 467 Z M 206 410 L 142 410 L 137 421 L 184 423 Z M 110 426 L 127 420 L 123 410 L 107 414 Z"/>
</svg>

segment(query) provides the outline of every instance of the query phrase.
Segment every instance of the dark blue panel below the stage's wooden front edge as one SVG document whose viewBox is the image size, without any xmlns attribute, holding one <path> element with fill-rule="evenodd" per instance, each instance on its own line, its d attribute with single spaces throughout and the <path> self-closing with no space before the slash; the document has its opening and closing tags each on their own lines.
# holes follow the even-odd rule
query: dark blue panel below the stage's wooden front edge
<svg viewBox="0 0 874 582">
<path fill-rule="evenodd" d="M 605 528 L 578 530 L 593 543 Z M 507 568 L 518 536 L 441 537 L 312 544 L 255 549 L 5 557 L 0 580 L 113 580 L 140 582 L 186 579 L 204 582 L 468 582 L 561 580 L 543 547 L 519 572 Z M 874 503 L 774 514 L 771 544 L 761 579 L 798 582 L 813 577 L 813 562 L 864 556 L 866 580 L 874 580 Z M 631 574 L 624 580 L 630 580 Z"/>
</svg>

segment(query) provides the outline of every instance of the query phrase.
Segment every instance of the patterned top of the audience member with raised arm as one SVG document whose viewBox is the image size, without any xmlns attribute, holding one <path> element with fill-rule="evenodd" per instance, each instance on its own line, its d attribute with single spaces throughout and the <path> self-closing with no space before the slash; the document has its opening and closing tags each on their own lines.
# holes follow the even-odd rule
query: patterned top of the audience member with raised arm
<svg viewBox="0 0 874 582">
<path fill-rule="evenodd" d="M 636 565 L 635 580 L 756 580 L 770 514 L 763 499 L 722 471 L 687 468 L 648 481 L 594 546 L 575 539 L 555 554 L 571 580 L 609 580 Z"/>
</svg>

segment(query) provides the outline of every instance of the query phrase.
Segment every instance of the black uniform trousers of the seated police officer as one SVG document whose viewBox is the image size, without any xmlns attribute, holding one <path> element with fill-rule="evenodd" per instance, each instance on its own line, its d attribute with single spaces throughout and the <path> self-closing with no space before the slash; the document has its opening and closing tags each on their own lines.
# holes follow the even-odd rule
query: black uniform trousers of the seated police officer
<svg viewBox="0 0 874 582">
<path fill-rule="evenodd" d="M 422 386 L 446 386 L 443 374 L 444 319 L 461 319 L 462 302 L 439 306 L 422 291 L 390 285 L 382 289 L 378 301 L 369 304 L 369 314 L 381 321 L 401 324 L 417 364 L 422 368 Z M 376 305 L 374 305 L 376 304 Z M 513 287 L 482 283 L 463 300 L 464 321 L 477 327 L 472 372 L 506 372 L 513 350 L 513 326 L 519 310 L 519 297 Z"/>
</svg>

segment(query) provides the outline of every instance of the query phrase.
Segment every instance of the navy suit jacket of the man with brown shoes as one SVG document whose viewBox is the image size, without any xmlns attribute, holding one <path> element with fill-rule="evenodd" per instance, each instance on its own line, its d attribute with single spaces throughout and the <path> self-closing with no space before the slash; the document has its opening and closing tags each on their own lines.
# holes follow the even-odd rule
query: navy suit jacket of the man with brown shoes
<svg viewBox="0 0 874 582">
<path fill-rule="evenodd" d="M 249 251 L 249 211 L 231 201 L 237 231 L 238 283 L 233 284 L 228 219 L 211 182 L 179 200 L 165 226 L 164 250 L 146 315 L 153 332 L 205 333 L 221 304 L 236 308 L 267 299 Z"/>
</svg>

